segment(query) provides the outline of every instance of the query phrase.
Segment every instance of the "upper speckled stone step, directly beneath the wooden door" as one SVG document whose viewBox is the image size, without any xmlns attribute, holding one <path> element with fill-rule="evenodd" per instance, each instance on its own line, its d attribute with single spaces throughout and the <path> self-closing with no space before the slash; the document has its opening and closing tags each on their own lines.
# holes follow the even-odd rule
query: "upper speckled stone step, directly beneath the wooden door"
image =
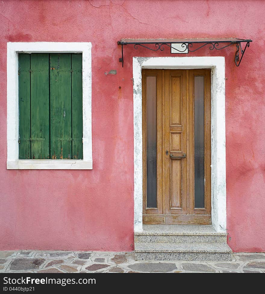
<svg viewBox="0 0 265 294">
<path fill-rule="evenodd" d="M 224 243 L 226 232 L 210 225 L 143 225 L 134 233 L 135 243 Z"/>
</svg>

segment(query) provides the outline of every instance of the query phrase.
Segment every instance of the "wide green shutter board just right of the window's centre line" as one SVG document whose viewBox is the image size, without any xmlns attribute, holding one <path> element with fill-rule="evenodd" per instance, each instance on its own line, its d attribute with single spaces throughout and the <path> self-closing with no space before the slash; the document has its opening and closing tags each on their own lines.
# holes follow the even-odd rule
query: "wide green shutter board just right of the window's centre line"
<svg viewBox="0 0 265 294">
<path fill-rule="evenodd" d="M 51 158 L 72 158 L 71 54 L 50 54 Z"/>
</svg>

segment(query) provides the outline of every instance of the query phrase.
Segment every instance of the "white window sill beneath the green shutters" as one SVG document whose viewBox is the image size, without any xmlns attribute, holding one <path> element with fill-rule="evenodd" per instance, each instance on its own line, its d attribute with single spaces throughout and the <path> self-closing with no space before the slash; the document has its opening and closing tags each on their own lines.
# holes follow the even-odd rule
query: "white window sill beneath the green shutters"
<svg viewBox="0 0 265 294">
<path fill-rule="evenodd" d="M 81 159 L 19 159 L 7 161 L 7 169 L 92 169 L 92 160 Z"/>
</svg>

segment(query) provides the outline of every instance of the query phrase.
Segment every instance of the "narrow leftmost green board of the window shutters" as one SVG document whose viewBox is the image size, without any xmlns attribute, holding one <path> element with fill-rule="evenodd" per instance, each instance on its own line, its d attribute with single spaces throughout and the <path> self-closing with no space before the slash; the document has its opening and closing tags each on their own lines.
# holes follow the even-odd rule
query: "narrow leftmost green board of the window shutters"
<svg viewBox="0 0 265 294">
<path fill-rule="evenodd" d="M 18 55 L 19 159 L 31 159 L 30 146 L 30 54 Z M 15 111 L 15 110 L 14 110 Z"/>
</svg>

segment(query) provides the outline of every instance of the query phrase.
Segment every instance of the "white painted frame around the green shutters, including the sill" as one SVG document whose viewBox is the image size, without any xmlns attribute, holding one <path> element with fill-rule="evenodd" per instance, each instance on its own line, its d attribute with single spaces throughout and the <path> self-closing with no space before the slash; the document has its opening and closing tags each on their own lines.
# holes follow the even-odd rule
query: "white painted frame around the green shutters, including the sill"
<svg viewBox="0 0 265 294">
<path fill-rule="evenodd" d="M 91 42 L 7 43 L 7 169 L 92 169 Z M 18 159 L 18 53 L 82 53 L 83 72 L 83 159 Z"/>
</svg>

